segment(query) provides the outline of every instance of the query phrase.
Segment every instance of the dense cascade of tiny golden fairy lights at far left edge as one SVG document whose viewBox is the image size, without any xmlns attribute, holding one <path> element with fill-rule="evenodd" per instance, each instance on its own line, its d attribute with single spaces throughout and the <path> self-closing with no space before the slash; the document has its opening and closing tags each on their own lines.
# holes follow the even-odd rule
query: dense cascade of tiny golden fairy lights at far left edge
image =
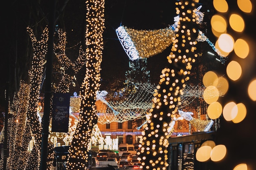
<svg viewBox="0 0 256 170">
<path fill-rule="evenodd" d="M 28 110 L 29 85 L 24 81 L 20 82 L 20 90 L 15 95 L 13 103 L 9 108 L 9 113 L 12 117 L 8 121 L 8 139 L 9 139 L 9 157 L 7 169 L 18 169 L 21 165 L 25 165 L 27 161 L 27 146 L 31 138 L 30 131 L 27 130 L 26 114 Z M 2 129 L 4 130 L 4 128 Z M 27 140 L 22 140 L 27 139 Z M 4 133 L 0 133 L 0 142 L 4 143 Z M 17 160 L 20 160 L 19 162 Z M 3 169 L 2 161 L 0 169 Z"/>
</svg>

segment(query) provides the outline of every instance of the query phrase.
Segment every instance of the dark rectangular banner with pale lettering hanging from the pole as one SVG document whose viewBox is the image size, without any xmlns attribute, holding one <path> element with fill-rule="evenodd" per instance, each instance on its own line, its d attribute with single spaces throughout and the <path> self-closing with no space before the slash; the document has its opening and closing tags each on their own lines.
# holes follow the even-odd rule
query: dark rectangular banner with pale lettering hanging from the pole
<svg viewBox="0 0 256 170">
<path fill-rule="evenodd" d="M 68 132 L 70 93 L 54 93 L 52 103 L 52 132 Z"/>
</svg>

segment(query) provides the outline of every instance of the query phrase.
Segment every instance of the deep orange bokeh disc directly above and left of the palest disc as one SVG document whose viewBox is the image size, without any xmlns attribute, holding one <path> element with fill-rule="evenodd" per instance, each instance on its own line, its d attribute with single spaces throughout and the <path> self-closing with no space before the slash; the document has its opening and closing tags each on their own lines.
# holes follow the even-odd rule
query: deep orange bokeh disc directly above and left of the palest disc
<svg viewBox="0 0 256 170">
<path fill-rule="evenodd" d="M 213 15 L 211 18 L 211 28 L 219 33 L 227 30 L 227 22 L 225 18 L 220 15 Z"/>
</svg>

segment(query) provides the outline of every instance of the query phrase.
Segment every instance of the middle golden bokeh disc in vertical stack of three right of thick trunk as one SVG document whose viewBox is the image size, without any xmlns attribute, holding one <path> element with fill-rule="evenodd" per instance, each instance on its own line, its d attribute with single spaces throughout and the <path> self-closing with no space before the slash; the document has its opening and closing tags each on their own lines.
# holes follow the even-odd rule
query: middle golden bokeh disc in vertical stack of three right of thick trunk
<svg viewBox="0 0 256 170">
<path fill-rule="evenodd" d="M 215 86 L 208 86 L 203 93 L 204 101 L 208 104 L 216 102 L 219 98 L 219 91 Z"/>
</svg>

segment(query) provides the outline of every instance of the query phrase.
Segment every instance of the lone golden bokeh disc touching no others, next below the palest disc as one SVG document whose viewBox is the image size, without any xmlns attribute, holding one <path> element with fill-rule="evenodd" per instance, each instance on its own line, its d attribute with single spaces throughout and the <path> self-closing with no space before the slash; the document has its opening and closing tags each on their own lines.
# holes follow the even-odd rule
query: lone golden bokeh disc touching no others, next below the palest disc
<svg viewBox="0 0 256 170">
<path fill-rule="evenodd" d="M 242 68 L 241 68 L 240 64 L 236 61 L 231 61 L 227 65 L 226 69 L 227 69 L 227 75 L 229 76 L 229 78 L 231 80 L 236 81 L 242 75 Z"/>
</svg>

